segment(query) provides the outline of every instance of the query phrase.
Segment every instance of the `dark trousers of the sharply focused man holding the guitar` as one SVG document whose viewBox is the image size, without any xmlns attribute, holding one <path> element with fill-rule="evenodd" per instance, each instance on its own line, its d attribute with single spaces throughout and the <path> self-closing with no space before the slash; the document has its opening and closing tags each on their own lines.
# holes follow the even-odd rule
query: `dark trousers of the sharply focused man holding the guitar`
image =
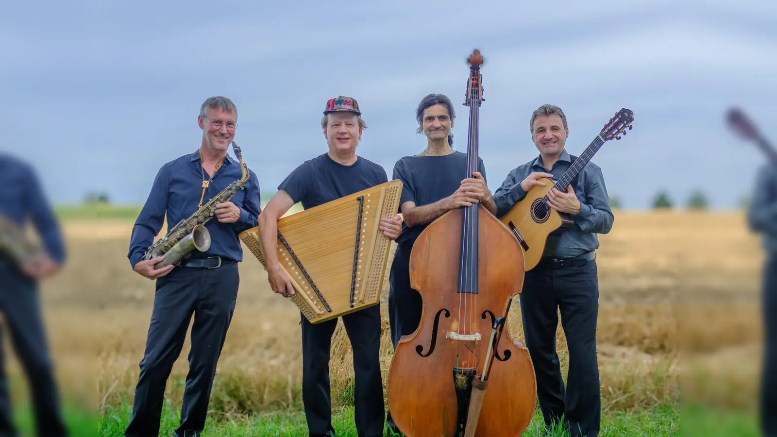
<svg viewBox="0 0 777 437">
<path fill-rule="evenodd" d="M 596 261 L 573 267 L 538 265 L 526 272 L 519 296 L 524 337 L 534 363 L 545 425 L 564 425 L 573 437 L 598 435 L 601 393 L 596 356 Z M 557 308 L 570 353 L 566 390 L 556 354 Z M 563 424 L 559 420 L 562 415 Z"/>
</svg>

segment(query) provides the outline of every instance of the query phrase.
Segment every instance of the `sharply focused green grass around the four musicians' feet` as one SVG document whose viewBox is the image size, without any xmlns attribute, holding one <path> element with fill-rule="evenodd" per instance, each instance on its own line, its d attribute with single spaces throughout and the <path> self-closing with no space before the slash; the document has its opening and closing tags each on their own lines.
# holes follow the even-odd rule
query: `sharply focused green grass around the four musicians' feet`
<svg viewBox="0 0 777 437">
<path fill-rule="evenodd" d="M 179 424 L 178 407 L 168 401 L 162 411 L 160 435 L 172 435 Z M 124 429 L 131 418 L 131 405 L 122 409 L 106 411 L 99 418 L 99 435 L 104 437 L 119 437 L 124 435 Z M 508 414 L 505 412 L 505 414 Z M 333 412 L 333 426 L 337 437 L 357 437 L 354 425 L 354 410 L 343 407 Z M 524 436 L 540 436 L 545 426 L 542 415 L 536 414 Z M 203 437 L 227 435 L 253 435 L 256 437 L 306 437 L 308 428 L 305 425 L 305 415 L 301 411 L 275 411 L 262 416 L 249 418 L 218 418 L 209 414 Z M 386 432 L 385 435 L 391 435 Z M 563 437 L 566 434 L 556 431 L 548 437 Z M 680 413 L 676 408 L 656 407 L 648 411 L 612 414 L 602 420 L 601 436 L 618 437 L 664 437 L 680 435 Z M 736 435 L 736 434 L 728 434 Z"/>
</svg>

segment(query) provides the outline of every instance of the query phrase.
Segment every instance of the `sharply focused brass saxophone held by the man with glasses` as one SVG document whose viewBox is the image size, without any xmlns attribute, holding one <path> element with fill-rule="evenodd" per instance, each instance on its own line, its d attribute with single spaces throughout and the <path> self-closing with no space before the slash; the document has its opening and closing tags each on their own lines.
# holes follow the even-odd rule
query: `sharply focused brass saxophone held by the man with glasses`
<svg viewBox="0 0 777 437">
<path fill-rule="evenodd" d="M 163 255 L 162 260 L 155 264 L 155 268 L 177 264 L 183 258 L 189 257 L 193 250 L 204 252 L 211 247 L 211 232 L 205 229 L 205 223 L 210 221 L 215 215 L 216 205 L 232 199 L 232 196 L 238 190 L 242 190 L 243 185 L 251 177 L 248 166 L 242 162 L 240 147 L 235 142 L 232 142 L 232 150 L 240 162 L 240 170 L 242 171 L 240 179 L 229 184 L 221 193 L 216 194 L 214 198 L 207 201 L 205 205 L 202 205 L 189 218 L 181 220 L 177 225 L 173 226 L 164 238 L 159 239 L 146 250 L 143 256 L 144 260 L 150 260 Z"/>
</svg>

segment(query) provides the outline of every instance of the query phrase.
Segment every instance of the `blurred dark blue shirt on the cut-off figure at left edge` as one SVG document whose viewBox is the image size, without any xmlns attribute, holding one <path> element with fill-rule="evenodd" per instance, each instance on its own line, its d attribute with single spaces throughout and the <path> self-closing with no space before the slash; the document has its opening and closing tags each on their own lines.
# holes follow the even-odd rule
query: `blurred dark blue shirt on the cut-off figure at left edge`
<svg viewBox="0 0 777 437">
<path fill-rule="evenodd" d="M 20 159 L 5 153 L 0 153 L 0 215 L 20 226 L 31 219 L 51 259 L 64 263 L 60 225 L 37 173 Z"/>
</svg>

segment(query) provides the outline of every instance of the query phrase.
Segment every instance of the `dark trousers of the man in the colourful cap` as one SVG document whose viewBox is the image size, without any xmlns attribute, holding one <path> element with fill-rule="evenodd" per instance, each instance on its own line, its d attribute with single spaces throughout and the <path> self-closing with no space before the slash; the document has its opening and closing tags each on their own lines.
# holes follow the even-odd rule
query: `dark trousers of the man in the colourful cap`
<svg viewBox="0 0 777 437">
<path fill-rule="evenodd" d="M 329 387 L 329 352 L 337 319 L 326 322 L 302 320 L 302 401 L 310 437 L 334 432 L 332 397 Z M 354 404 L 356 431 L 359 437 L 383 435 L 384 404 L 381 379 L 381 309 L 380 305 L 361 309 L 342 317 L 354 350 Z"/>
</svg>

